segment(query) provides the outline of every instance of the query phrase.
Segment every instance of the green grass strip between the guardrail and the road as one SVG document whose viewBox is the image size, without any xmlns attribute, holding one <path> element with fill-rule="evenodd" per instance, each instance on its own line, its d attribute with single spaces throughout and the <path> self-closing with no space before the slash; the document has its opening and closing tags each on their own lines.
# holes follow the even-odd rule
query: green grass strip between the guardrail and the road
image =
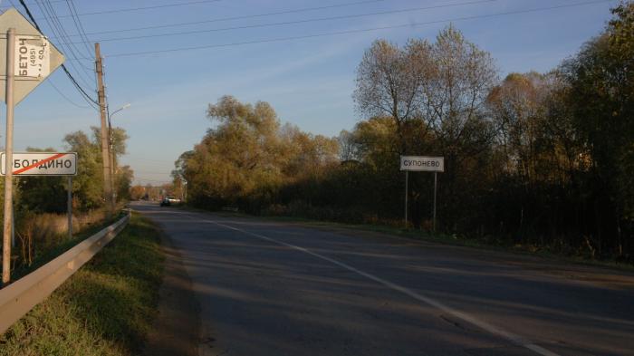
<svg viewBox="0 0 634 356">
<path fill-rule="evenodd" d="M 43 303 L 0 336 L 0 355 L 136 355 L 157 313 L 160 232 L 130 225 Z"/>
</svg>

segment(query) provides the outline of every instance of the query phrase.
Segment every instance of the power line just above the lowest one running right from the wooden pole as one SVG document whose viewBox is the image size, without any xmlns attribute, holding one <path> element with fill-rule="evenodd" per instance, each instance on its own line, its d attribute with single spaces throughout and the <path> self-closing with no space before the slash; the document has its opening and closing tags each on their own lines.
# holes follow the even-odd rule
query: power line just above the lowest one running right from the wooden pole
<svg viewBox="0 0 634 356">
<path fill-rule="evenodd" d="M 243 25 L 243 26 L 214 28 L 214 29 L 207 29 L 207 30 L 193 30 L 193 31 L 168 33 L 168 34 L 146 34 L 146 35 L 129 36 L 129 37 L 105 38 L 105 39 L 99 39 L 98 42 L 139 40 L 139 39 L 143 39 L 143 38 L 153 38 L 153 37 L 162 37 L 162 36 L 178 36 L 178 35 L 186 35 L 186 34 L 205 34 L 205 33 L 211 33 L 211 32 L 242 30 L 242 29 L 248 29 L 248 28 L 273 27 L 273 26 L 281 26 L 281 25 L 286 25 L 286 24 L 316 23 L 316 22 L 322 22 L 322 21 L 343 20 L 343 19 L 351 19 L 351 18 L 376 16 L 376 15 L 380 15 L 380 14 L 402 14 L 402 13 L 411 13 L 411 12 L 415 12 L 415 11 L 425 11 L 425 10 L 431 10 L 431 9 L 437 9 L 437 8 L 445 8 L 445 7 L 464 6 L 464 5 L 477 5 L 477 4 L 484 4 L 484 3 L 494 3 L 496 1 L 498 1 L 498 0 L 476 0 L 476 1 L 468 1 L 468 2 L 465 2 L 465 3 L 433 5 L 433 6 L 426 6 L 426 7 L 412 7 L 412 8 L 408 8 L 408 9 L 380 11 L 380 12 L 376 12 L 376 13 L 367 13 L 367 14 L 345 14 L 345 15 L 340 15 L 340 16 L 318 17 L 318 18 L 296 20 L 296 21 L 285 21 L 285 22 L 280 22 L 280 23 L 249 24 L 249 25 Z"/>
</svg>

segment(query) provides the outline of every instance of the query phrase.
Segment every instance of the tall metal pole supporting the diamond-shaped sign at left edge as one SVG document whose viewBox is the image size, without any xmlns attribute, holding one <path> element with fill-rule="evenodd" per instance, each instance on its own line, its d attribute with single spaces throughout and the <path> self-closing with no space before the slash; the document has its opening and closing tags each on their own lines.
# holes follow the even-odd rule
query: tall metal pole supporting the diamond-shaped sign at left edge
<svg viewBox="0 0 634 356">
<path fill-rule="evenodd" d="M 5 141 L 5 216 L 2 245 L 2 283 L 11 281 L 11 229 L 14 188 L 14 62 L 15 62 L 15 29 L 6 33 L 6 141 Z"/>
</svg>

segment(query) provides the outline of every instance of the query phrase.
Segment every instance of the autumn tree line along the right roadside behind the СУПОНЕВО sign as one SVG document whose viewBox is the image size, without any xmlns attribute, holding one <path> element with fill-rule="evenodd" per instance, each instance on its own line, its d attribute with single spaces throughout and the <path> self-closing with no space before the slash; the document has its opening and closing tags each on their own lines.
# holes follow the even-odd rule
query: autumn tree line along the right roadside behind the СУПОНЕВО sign
<svg viewBox="0 0 634 356">
<path fill-rule="evenodd" d="M 550 72 L 499 78 L 453 25 L 433 42 L 378 40 L 339 137 L 282 125 L 266 102 L 210 104 L 214 126 L 173 172 L 198 207 L 397 224 L 399 156 L 443 156 L 438 226 L 591 257 L 634 252 L 634 3 Z M 410 174 L 412 226 L 429 229 L 433 175 Z"/>
</svg>

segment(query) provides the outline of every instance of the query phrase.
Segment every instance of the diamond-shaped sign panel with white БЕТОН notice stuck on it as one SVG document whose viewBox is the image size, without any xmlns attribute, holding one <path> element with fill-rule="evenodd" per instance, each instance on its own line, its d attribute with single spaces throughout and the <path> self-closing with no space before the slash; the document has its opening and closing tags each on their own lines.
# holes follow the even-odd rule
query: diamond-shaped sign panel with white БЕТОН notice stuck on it
<svg viewBox="0 0 634 356">
<path fill-rule="evenodd" d="M 15 29 L 14 104 L 19 103 L 40 85 L 64 57 L 46 37 L 14 8 L 0 14 L 0 53 L 6 53 L 6 36 Z M 0 55 L 0 100 L 5 101 L 6 58 Z"/>
</svg>

